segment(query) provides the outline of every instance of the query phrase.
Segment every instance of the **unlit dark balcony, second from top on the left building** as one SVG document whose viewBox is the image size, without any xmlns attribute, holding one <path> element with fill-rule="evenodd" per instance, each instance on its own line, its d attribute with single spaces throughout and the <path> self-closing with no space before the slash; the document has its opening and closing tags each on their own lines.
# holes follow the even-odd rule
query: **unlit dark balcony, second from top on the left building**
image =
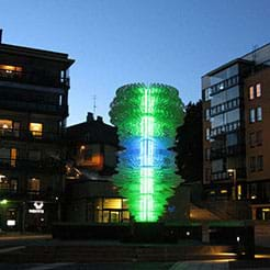
<svg viewBox="0 0 270 270">
<path fill-rule="evenodd" d="M 0 108 L 2 110 L 12 110 L 12 111 L 26 111 L 44 114 L 56 114 L 56 115 L 67 115 L 68 106 L 58 105 L 50 103 L 38 103 L 38 102 L 27 102 L 20 100 L 11 99 L 0 99 Z"/>
</svg>

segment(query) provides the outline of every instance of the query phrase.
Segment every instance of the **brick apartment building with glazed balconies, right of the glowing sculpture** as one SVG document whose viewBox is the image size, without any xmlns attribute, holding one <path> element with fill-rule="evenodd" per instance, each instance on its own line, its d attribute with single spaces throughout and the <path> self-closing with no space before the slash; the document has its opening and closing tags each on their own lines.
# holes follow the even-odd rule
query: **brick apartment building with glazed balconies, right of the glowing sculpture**
<svg viewBox="0 0 270 270">
<path fill-rule="evenodd" d="M 270 218 L 270 44 L 202 77 L 203 185 L 212 201 L 245 201 Z"/>
</svg>

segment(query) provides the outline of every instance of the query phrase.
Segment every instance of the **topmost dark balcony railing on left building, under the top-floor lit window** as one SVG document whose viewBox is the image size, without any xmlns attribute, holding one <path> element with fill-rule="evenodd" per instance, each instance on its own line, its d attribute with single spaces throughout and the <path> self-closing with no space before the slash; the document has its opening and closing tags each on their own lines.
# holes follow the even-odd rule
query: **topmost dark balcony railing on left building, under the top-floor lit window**
<svg viewBox="0 0 270 270">
<path fill-rule="evenodd" d="M 44 72 L 25 72 L 0 69 L 0 80 L 45 87 L 69 88 L 69 78 L 57 78 Z"/>
</svg>

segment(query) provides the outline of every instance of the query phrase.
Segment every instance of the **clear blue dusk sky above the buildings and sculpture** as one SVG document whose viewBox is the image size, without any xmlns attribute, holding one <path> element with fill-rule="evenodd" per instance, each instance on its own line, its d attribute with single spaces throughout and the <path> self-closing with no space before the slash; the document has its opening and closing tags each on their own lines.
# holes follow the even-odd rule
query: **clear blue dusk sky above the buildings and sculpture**
<svg viewBox="0 0 270 270">
<path fill-rule="evenodd" d="M 93 110 L 109 122 L 132 82 L 201 98 L 201 76 L 270 42 L 269 0 L 1 0 L 3 43 L 68 53 L 69 124 Z"/>
</svg>

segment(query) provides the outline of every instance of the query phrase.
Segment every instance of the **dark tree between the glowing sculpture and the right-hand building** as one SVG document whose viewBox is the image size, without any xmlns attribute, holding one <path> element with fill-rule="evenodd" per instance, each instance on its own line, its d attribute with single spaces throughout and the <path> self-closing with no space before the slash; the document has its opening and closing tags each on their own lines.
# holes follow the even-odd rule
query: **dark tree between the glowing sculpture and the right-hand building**
<svg viewBox="0 0 270 270">
<path fill-rule="evenodd" d="M 183 124 L 177 130 L 178 173 L 187 182 L 201 181 L 203 177 L 202 101 L 185 106 Z"/>
</svg>

